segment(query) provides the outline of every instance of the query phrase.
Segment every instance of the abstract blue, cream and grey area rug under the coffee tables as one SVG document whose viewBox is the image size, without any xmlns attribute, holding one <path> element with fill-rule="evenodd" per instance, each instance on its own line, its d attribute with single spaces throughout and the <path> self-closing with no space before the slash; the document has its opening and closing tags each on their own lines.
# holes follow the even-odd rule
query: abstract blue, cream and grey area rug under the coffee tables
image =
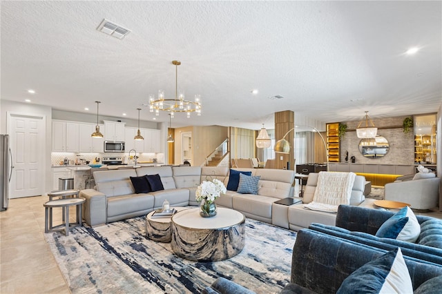
<svg viewBox="0 0 442 294">
<path fill-rule="evenodd" d="M 279 293 L 290 280 L 294 231 L 247 219 L 244 249 L 220 262 L 182 259 L 145 236 L 144 217 L 45 234 L 72 293 L 200 293 L 217 277 Z"/>
</svg>

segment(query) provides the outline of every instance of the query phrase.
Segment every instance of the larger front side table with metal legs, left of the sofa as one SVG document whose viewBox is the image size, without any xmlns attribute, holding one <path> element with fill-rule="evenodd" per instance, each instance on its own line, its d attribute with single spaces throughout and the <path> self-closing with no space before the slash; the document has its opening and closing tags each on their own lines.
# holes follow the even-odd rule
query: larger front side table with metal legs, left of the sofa
<svg viewBox="0 0 442 294">
<path fill-rule="evenodd" d="M 66 198 L 66 199 L 56 199 L 52 201 L 48 201 L 43 204 L 45 208 L 45 219 L 44 219 L 44 233 L 49 233 L 52 231 L 60 231 L 64 230 L 64 234 L 66 236 L 69 235 L 69 228 L 73 228 L 74 226 L 81 226 L 81 206 L 86 202 L 84 198 Z M 75 206 L 76 214 L 75 214 L 75 222 L 69 222 L 69 207 Z M 61 207 L 63 208 L 63 216 L 64 222 L 57 226 L 52 226 L 52 208 Z"/>
</svg>

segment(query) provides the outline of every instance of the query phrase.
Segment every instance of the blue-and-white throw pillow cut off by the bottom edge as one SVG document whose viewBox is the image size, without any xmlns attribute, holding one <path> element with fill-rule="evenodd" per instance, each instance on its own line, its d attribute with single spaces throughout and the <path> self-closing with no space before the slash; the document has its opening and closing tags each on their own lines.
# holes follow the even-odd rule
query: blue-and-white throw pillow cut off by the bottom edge
<svg viewBox="0 0 442 294">
<path fill-rule="evenodd" d="M 349 275 L 336 294 L 413 293 L 412 279 L 401 248 L 367 262 Z"/>
</svg>

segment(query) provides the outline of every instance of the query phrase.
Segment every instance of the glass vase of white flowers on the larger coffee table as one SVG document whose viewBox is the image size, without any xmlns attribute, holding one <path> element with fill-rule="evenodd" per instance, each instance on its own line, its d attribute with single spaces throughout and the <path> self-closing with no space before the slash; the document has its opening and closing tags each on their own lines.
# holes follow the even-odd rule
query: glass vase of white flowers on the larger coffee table
<svg viewBox="0 0 442 294">
<path fill-rule="evenodd" d="M 213 217 L 216 215 L 215 199 L 226 193 L 226 187 L 219 179 L 203 181 L 196 189 L 196 201 L 200 202 L 200 215 Z"/>
</svg>

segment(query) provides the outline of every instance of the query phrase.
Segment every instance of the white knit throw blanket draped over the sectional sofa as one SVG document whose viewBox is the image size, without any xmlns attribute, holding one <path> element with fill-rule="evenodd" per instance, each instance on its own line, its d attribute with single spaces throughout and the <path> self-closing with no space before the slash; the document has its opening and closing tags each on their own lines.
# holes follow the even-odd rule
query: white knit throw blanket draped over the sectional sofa
<svg viewBox="0 0 442 294">
<path fill-rule="evenodd" d="M 304 208 L 337 212 L 340 204 L 350 204 L 355 173 L 320 172 L 313 201 Z"/>
</svg>

